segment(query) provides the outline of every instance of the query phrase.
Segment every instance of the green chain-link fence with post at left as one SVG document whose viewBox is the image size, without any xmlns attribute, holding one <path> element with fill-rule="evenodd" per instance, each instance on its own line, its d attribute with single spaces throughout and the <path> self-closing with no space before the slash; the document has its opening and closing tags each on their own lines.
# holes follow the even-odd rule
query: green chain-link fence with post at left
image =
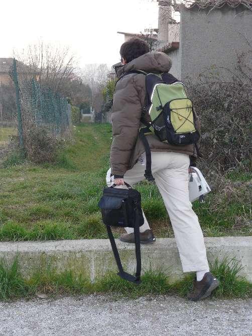
<svg viewBox="0 0 252 336">
<path fill-rule="evenodd" d="M 57 139 L 70 135 L 71 107 L 65 97 L 39 84 L 29 68 L 13 59 L 9 75 L 13 83 L 0 87 L 0 156 L 18 135 L 18 143 L 27 151 L 31 130 L 43 130 Z M 29 135 L 30 136 L 30 135 Z"/>
</svg>

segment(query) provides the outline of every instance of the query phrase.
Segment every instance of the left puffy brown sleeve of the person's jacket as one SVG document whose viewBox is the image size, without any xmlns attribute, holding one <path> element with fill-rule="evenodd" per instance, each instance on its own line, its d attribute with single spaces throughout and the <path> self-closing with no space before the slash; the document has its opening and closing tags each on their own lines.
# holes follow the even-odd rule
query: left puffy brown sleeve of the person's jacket
<svg viewBox="0 0 252 336">
<path fill-rule="evenodd" d="M 130 158 L 139 134 L 142 97 L 135 78 L 136 75 L 128 75 L 120 79 L 113 96 L 113 141 L 110 151 L 112 175 L 123 176 L 129 170 Z"/>
</svg>

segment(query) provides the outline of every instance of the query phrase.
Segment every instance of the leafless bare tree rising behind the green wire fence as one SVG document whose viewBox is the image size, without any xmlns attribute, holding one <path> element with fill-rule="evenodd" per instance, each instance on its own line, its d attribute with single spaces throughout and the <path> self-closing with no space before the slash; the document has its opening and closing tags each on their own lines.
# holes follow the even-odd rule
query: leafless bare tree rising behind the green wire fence
<svg viewBox="0 0 252 336">
<path fill-rule="evenodd" d="M 39 41 L 15 56 L 19 59 L 21 80 L 34 78 L 40 85 L 70 98 L 76 106 L 83 102 L 91 103 L 90 87 L 76 74 L 77 61 L 69 47 Z"/>
</svg>

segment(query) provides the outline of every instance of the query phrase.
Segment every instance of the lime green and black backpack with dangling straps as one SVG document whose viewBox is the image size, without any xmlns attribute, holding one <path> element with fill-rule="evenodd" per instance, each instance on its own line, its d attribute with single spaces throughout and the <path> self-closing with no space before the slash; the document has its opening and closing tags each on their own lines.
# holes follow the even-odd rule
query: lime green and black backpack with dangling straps
<svg viewBox="0 0 252 336">
<path fill-rule="evenodd" d="M 140 129 L 140 138 L 146 150 L 145 177 L 154 181 L 151 171 L 151 149 L 146 135 L 154 134 L 160 141 L 175 146 L 194 144 L 200 156 L 197 146 L 200 134 L 195 125 L 196 115 L 184 84 L 172 74 L 134 70 L 125 73 L 124 76 L 131 73 L 146 75 L 146 105 L 141 118 L 145 127 Z M 149 121 L 146 115 L 149 116 Z"/>
</svg>

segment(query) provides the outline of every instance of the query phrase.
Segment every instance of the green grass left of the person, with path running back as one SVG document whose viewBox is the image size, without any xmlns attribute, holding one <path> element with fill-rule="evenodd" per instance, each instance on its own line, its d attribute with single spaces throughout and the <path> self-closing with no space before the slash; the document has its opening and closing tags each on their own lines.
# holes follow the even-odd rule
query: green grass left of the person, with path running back
<svg viewBox="0 0 252 336">
<path fill-rule="evenodd" d="M 96 204 L 110 138 L 109 125 L 83 125 L 57 165 L 0 169 L 0 239 L 105 238 Z"/>
</svg>

